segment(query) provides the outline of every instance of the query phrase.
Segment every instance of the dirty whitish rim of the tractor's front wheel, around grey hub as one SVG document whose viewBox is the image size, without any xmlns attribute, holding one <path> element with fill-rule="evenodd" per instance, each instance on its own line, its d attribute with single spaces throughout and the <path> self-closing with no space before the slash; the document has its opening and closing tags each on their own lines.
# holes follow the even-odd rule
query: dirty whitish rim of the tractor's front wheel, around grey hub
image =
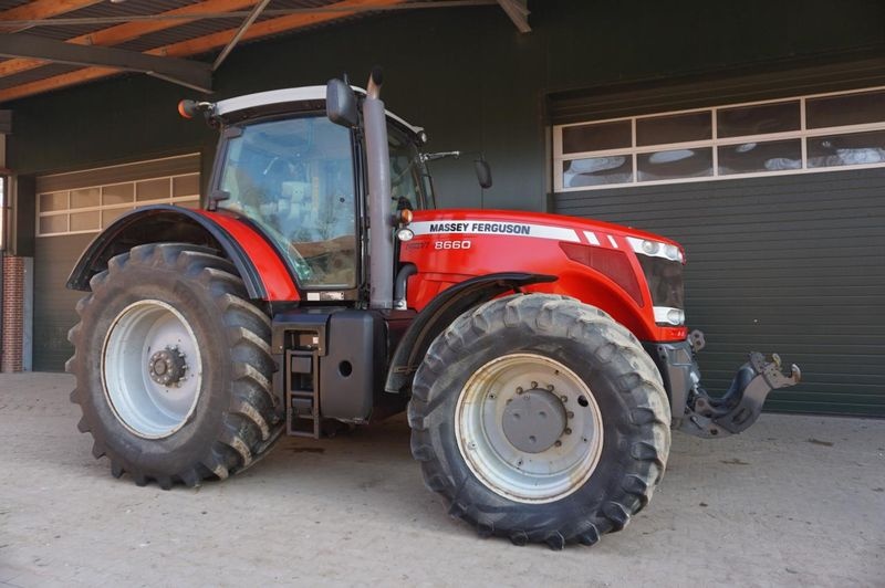
<svg viewBox="0 0 885 588">
<path fill-rule="evenodd" d="M 509 440 L 503 419 L 509 401 L 531 390 L 555 395 L 568 421 L 555 444 L 529 453 Z M 470 471 L 517 502 L 564 498 L 590 479 L 602 453 L 602 416 L 590 387 L 561 363 L 538 354 L 502 356 L 477 369 L 461 389 L 455 419 L 458 449 Z"/>
</svg>

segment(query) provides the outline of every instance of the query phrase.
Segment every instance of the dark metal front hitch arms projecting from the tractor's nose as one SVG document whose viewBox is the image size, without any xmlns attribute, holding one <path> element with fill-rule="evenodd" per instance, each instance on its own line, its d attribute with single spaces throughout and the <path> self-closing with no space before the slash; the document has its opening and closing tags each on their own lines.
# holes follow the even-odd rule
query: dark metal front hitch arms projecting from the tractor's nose
<svg viewBox="0 0 885 588">
<path fill-rule="evenodd" d="M 767 361 L 762 354 L 751 351 L 750 360 L 738 369 L 721 398 L 711 398 L 699 387 L 693 390 L 678 429 L 702 438 L 740 433 L 759 418 L 771 390 L 794 386 L 801 377 L 795 364 L 790 366 L 790 375 L 784 375 L 778 354 Z"/>
</svg>

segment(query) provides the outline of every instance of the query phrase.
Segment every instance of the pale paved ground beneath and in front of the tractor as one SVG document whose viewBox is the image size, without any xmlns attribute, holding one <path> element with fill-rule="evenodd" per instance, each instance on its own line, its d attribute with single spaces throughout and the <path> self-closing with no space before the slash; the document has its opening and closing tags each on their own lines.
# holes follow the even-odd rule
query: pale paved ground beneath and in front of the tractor
<svg viewBox="0 0 885 588">
<path fill-rule="evenodd" d="M 72 378 L 0 375 L 0 586 L 885 586 L 885 421 L 763 414 L 674 435 L 649 507 L 593 548 L 480 539 L 426 491 L 402 418 L 284 439 L 223 483 L 114 480 Z"/>
</svg>

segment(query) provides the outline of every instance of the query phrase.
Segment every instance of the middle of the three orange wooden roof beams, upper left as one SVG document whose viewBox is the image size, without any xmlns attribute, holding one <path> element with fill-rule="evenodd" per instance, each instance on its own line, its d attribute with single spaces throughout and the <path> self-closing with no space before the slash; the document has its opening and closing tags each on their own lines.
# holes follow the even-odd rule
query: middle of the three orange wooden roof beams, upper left
<svg viewBox="0 0 885 588">
<path fill-rule="evenodd" d="M 176 8 L 175 10 L 168 10 L 166 12 L 163 12 L 163 14 L 166 15 L 192 14 L 194 15 L 192 19 L 165 20 L 155 22 L 150 21 L 127 22 L 126 24 L 119 24 L 117 27 L 102 29 L 101 31 L 95 31 L 87 34 L 81 34 L 80 36 L 74 36 L 73 39 L 69 39 L 67 42 L 76 43 L 79 45 L 103 45 L 103 46 L 117 45 L 119 43 L 125 43 L 126 41 L 132 41 L 133 39 L 138 39 L 139 36 L 144 36 L 148 33 L 155 33 L 157 31 L 171 29 L 173 27 L 179 27 L 188 22 L 194 22 L 195 20 L 199 20 L 200 14 L 206 14 L 210 12 L 229 12 L 232 10 L 239 10 L 241 8 L 250 7 L 254 3 L 256 0 L 207 0 L 205 2 L 189 4 L 186 7 Z M 3 14 L 6 14 L 6 12 L 0 13 L 0 18 L 2 18 Z M 27 72 L 29 70 L 41 67 L 43 65 L 46 65 L 46 62 L 40 60 L 27 60 L 27 59 L 7 60 L 4 62 L 0 62 L 0 77 L 4 77 L 7 75 L 14 75 L 21 72 Z"/>
</svg>

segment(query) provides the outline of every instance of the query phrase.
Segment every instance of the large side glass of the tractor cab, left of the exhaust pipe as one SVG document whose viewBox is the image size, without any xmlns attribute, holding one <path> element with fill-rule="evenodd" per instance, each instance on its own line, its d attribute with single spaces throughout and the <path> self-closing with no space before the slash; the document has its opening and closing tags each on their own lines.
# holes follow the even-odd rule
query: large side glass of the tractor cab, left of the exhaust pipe
<svg viewBox="0 0 885 588">
<path fill-rule="evenodd" d="M 304 287 L 356 286 L 351 133 L 325 116 L 237 127 L 219 208 L 261 225 Z"/>
</svg>

